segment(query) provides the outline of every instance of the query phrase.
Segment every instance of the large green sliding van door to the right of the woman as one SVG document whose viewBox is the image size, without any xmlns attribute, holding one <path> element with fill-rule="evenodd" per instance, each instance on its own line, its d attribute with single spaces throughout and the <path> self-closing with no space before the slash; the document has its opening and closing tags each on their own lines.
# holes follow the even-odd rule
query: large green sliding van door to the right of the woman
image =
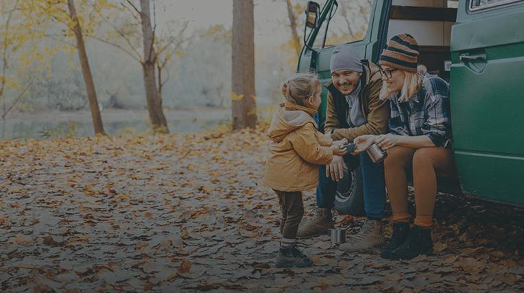
<svg viewBox="0 0 524 293">
<path fill-rule="evenodd" d="M 524 204 L 524 1 L 460 0 L 451 120 L 464 191 Z"/>
</svg>

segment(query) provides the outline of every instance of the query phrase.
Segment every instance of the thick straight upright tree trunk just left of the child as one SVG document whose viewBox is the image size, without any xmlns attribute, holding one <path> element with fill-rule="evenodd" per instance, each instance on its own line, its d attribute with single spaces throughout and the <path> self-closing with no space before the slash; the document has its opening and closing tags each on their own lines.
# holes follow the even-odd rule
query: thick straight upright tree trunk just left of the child
<svg viewBox="0 0 524 293">
<path fill-rule="evenodd" d="M 233 130 L 254 128 L 257 124 L 257 106 L 254 100 L 253 0 L 233 0 L 232 55 Z"/>
</svg>

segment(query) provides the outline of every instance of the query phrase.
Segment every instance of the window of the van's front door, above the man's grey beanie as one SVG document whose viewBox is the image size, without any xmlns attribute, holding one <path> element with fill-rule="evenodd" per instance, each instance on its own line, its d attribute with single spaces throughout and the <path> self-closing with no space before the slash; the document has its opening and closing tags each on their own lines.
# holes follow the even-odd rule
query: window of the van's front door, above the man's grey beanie
<svg viewBox="0 0 524 293">
<path fill-rule="evenodd" d="M 325 47 L 364 40 L 372 8 L 372 0 L 338 1 L 338 8 L 329 22 Z M 317 49 L 322 48 L 326 25 L 327 19 L 313 44 Z"/>
</svg>

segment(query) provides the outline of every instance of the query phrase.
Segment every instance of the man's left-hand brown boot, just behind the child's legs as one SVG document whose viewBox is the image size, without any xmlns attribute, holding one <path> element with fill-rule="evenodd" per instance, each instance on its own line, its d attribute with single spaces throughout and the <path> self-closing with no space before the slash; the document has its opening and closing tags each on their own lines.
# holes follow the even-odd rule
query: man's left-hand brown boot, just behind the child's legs
<svg viewBox="0 0 524 293">
<path fill-rule="evenodd" d="M 318 235 L 327 235 L 328 228 L 333 227 L 331 209 L 314 209 L 312 215 L 300 221 L 296 237 L 305 239 Z"/>
</svg>

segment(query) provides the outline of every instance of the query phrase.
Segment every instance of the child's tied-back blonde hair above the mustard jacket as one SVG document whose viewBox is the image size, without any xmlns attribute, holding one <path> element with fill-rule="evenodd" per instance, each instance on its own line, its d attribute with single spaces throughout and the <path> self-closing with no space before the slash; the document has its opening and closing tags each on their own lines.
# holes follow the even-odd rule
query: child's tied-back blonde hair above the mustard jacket
<svg viewBox="0 0 524 293">
<path fill-rule="evenodd" d="M 319 84 L 318 75 L 296 73 L 282 84 L 282 95 L 287 102 L 304 106 L 305 99 L 315 95 Z"/>
</svg>

